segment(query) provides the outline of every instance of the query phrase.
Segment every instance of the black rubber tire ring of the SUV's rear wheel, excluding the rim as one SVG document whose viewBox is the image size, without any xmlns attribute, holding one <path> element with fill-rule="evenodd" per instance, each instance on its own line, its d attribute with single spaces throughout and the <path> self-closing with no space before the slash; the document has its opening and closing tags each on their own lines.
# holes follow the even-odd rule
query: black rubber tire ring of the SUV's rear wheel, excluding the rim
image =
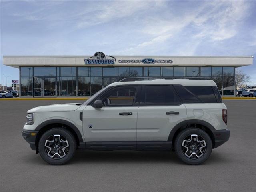
<svg viewBox="0 0 256 192">
<path fill-rule="evenodd" d="M 182 152 L 182 142 L 187 136 L 189 136 L 191 134 L 199 135 L 206 142 L 206 152 L 202 157 L 200 157 L 198 159 L 190 159 L 187 156 L 185 156 L 185 154 Z M 186 164 L 190 164 L 190 165 L 201 164 L 202 162 L 207 160 L 208 157 L 210 156 L 210 154 L 212 153 L 212 140 L 211 140 L 210 136 L 205 131 L 203 131 L 199 128 L 188 128 L 188 129 L 185 129 L 182 132 L 180 132 L 180 134 L 178 134 L 176 141 L 175 141 L 175 151 L 176 151 L 176 154 L 178 155 L 178 157 Z"/>
</svg>

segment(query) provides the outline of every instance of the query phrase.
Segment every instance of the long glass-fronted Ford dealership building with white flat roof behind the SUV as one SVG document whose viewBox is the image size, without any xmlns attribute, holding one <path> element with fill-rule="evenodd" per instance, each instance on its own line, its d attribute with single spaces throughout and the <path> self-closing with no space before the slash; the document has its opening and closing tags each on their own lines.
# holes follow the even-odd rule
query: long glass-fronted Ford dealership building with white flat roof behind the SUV
<svg viewBox="0 0 256 192">
<path fill-rule="evenodd" d="M 252 56 L 4 56 L 20 70 L 22 97 L 81 97 L 126 77 L 214 80 L 222 96 L 235 96 L 235 68 L 252 65 Z"/>
</svg>

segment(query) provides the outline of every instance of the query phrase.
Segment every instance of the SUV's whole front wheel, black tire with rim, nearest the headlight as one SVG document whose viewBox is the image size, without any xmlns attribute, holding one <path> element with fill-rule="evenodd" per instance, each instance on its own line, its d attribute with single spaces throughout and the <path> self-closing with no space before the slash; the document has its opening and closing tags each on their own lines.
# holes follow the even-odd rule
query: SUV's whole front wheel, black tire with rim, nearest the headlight
<svg viewBox="0 0 256 192">
<path fill-rule="evenodd" d="M 66 164 L 74 156 L 76 148 L 74 135 L 63 128 L 46 131 L 38 143 L 40 156 L 51 165 Z"/>
</svg>

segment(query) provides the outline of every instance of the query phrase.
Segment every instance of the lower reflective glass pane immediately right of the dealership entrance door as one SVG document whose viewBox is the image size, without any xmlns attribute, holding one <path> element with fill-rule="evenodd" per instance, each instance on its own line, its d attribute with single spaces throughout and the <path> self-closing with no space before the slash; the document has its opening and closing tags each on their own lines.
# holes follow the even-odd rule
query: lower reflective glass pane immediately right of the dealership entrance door
<svg viewBox="0 0 256 192">
<path fill-rule="evenodd" d="M 58 78 L 58 95 L 75 96 L 76 95 L 76 77 Z"/>
</svg>

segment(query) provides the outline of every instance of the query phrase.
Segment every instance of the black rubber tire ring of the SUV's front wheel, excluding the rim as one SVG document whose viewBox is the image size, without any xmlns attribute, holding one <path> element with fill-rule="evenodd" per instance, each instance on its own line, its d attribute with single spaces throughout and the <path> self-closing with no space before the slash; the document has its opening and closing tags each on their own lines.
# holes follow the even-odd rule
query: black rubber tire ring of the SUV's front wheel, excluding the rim
<svg viewBox="0 0 256 192">
<path fill-rule="evenodd" d="M 68 153 L 66 154 L 66 156 L 64 156 L 63 158 L 58 159 L 58 160 L 50 158 L 46 154 L 46 151 L 45 151 L 45 148 L 44 148 L 44 144 L 45 144 L 46 140 L 54 134 L 59 134 L 59 135 L 64 136 L 66 138 L 66 140 L 68 141 L 68 144 L 69 144 L 69 150 L 68 150 Z M 53 128 L 53 129 L 50 129 L 50 130 L 46 131 L 41 136 L 41 138 L 39 140 L 39 143 L 38 143 L 38 150 L 39 150 L 40 156 L 46 162 L 48 162 L 49 164 L 62 165 L 62 164 L 67 163 L 72 158 L 72 156 L 74 155 L 75 150 L 76 150 L 76 140 L 75 140 L 73 134 L 70 131 L 65 130 L 63 128 Z"/>
</svg>

